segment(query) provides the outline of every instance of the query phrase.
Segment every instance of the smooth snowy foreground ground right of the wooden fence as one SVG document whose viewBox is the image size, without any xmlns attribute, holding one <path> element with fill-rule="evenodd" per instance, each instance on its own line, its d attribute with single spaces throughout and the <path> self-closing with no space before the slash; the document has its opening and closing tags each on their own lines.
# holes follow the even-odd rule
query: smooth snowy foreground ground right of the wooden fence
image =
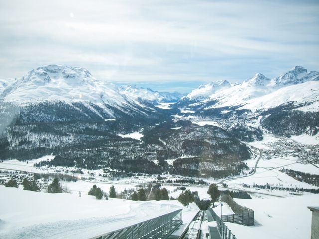
<svg viewBox="0 0 319 239">
<path fill-rule="evenodd" d="M 311 211 L 319 195 L 272 199 L 235 199 L 255 211 L 255 226 L 226 223 L 238 239 L 307 239 L 310 238 Z"/>
</svg>

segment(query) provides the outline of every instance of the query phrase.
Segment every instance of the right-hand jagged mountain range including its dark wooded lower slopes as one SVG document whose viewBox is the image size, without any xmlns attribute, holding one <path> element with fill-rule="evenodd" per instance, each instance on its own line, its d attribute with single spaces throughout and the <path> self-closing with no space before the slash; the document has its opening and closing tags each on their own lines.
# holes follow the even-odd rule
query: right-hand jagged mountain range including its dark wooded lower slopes
<svg viewBox="0 0 319 239">
<path fill-rule="evenodd" d="M 201 88 L 193 92 L 200 92 Z M 243 120 L 242 125 L 247 124 L 242 129 L 259 125 L 277 135 L 319 132 L 319 72 L 308 73 L 301 66 L 271 80 L 258 73 L 241 84 L 200 96 L 202 100 L 197 102 L 185 101 L 186 96 L 174 107 L 186 108 L 193 112 L 188 113 L 192 117 L 221 121 L 226 130 L 230 130 L 229 125 Z M 247 137 L 242 138 L 246 140 L 258 134 L 242 129 L 236 129 L 240 133 L 236 131 L 234 135 L 246 131 Z"/>
</svg>

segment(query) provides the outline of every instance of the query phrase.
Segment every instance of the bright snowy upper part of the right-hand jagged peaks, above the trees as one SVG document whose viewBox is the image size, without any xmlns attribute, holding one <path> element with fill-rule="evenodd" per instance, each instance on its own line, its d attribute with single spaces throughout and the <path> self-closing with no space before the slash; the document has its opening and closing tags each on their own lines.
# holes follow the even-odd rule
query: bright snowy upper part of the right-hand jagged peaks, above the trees
<svg viewBox="0 0 319 239">
<path fill-rule="evenodd" d="M 200 86 L 182 98 L 177 105 L 184 103 L 187 98 L 194 97 L 200 100 L 190 106 L 195 106 L 197 109 L 240 107 L 240 109 L 258 110 L 265 107 L 267 109 L 276 107 L 291 101 L 295 101 L 296 104 L 317 102 L 319 100 L 319 94 L 316 91 L 319 88 L 318 79 L 319 72 L 307 73 L 307 69 L 301 66 L 296 66 L 271 80 L 257 73 L 241 84 L 233 86 L 226 84 L 226 87 L 218 88 L 215 91 L 211 86 L 218 85 L 219 82 Z"/>
</svg>

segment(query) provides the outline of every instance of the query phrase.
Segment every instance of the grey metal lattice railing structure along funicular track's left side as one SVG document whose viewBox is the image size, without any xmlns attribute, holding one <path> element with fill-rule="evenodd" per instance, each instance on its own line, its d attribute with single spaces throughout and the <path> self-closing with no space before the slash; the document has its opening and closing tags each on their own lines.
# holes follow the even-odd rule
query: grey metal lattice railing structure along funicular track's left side
<svg viewBox="0 0 319 239">
<path fill-rule="evenodd" d="M 182 209 L 91 239 L 167 239 L 182 224 Z"/>
</svg>

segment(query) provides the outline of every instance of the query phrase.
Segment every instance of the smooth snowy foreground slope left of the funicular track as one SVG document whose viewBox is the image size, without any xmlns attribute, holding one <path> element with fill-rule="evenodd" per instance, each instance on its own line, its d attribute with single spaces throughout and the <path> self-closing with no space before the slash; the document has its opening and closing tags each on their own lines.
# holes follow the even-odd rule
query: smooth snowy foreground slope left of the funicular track
<svg viewBox="0 0 319 239">
<path fill-rule="evenodd" d="M 1 239 L 87 239 L 182 208 L 177 201 L 96 200 L 0 186 Z M 183 210 L 187 223 L 198 212 Z"/>
</svg>

